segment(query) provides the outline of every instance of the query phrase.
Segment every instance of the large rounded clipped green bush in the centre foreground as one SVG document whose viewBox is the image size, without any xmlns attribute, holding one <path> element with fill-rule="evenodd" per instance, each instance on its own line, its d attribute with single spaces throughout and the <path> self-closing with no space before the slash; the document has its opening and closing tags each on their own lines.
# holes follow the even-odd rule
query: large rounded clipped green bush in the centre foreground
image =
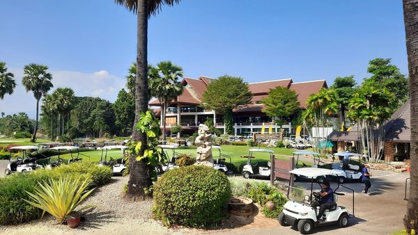
<svg viewBox="0 0 418 235">
<path fill-rule="evenodd" d="M 226 175 L 203 165 L 164 173 L 154 185 L 153 213 L 165 225 L 209 227 L 226 217 L 231 186 Z"/>
</svg>

